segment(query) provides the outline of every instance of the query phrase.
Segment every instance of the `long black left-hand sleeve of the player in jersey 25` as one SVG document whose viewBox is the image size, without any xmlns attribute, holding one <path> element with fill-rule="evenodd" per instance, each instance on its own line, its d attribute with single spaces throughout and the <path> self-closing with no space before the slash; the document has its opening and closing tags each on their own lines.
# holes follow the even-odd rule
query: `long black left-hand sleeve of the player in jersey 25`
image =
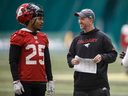
<svg viewBox="0 0 128 96">
<path fill-rule="evenodd" d="M 19 80 L 18 76 L 18 61 L 20 57 L 21 47 L 19 45 L 10 45 L 9 64 L 12 73 L 13 81 Z"/>
</svg>

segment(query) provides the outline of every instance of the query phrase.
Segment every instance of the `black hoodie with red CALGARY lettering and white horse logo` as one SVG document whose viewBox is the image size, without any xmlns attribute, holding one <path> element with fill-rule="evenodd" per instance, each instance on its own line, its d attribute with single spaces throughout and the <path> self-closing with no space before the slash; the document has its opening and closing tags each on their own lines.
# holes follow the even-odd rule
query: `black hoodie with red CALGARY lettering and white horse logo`
<svg viewBox="0 0 128 96">
<path fill-rule="evenodd" d="M 97 28 L 87 33 L 82 30 L 80 34 L 74 37 L 67 54 L 70 68 L 74 67 L 71 60 L 75 55 L 93 59 L 98 54 L 101 55 L 102 60 L 97 64 L 96 74 L 74 72 L 74 90 L 92 90 L 102 87 L 109 89 L 108 63 L 114 62 L 117 57 L 117 52 L 110 38 Z"/>
</svg>

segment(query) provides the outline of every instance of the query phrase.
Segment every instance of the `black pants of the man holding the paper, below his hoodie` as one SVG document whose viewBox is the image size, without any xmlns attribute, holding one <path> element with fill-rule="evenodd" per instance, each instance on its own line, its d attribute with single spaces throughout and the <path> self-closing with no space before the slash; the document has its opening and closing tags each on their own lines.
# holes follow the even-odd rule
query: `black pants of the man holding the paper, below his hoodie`
<svg viewBox="0 0 128 96">
<path fill-rule="evenodd" d="M 74 91 L 73 96 L 110 96 L 110 92 L 104 87 L 96 90 Z"/>
</svg>

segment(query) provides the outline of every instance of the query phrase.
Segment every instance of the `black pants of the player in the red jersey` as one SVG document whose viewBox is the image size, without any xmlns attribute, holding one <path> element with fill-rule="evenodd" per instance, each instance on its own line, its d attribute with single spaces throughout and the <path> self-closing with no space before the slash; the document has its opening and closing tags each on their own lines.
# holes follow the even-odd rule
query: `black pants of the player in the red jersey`
<svg viewBox="0 0 128 96">
<path fill-rule="evenodd" d="M 24 91 L 21 95 L 15 96 L 45 96 L 46 84 L 41 82 L 26 82 L 21 81 Z"/>
</svg>

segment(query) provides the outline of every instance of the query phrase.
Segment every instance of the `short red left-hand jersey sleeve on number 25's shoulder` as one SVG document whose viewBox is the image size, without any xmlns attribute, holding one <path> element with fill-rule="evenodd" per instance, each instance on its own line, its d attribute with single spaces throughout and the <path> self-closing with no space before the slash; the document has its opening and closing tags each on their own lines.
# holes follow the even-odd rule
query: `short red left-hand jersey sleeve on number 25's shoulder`
<svg viewBox="0 0 128 96">
<path fill-rule="evenodd" d="M 11 35 L 10 44 L 21 46 L 22 42 L 23 42 L 23 35 L 19 31 Z"/>
</svg>

